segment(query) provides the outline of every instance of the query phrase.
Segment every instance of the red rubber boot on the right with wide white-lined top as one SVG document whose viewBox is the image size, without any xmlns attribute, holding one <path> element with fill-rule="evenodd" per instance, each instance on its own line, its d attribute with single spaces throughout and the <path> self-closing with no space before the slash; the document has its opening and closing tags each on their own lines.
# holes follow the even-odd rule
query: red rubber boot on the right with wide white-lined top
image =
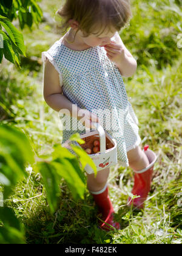
<svg viewBox="0 0 182 256">
<path fill-rule="evenodd" d="M 132 194 L 140 197 L 135 198 L 133 200 L 131 199 L 131 197 L 129 197 L 127 201 L 129 206 L 133 204 L 133 207 L 135 207 L 136 209 L 144 208 L 144 201 L 146 201 L 147 195 L 150 191 L 153 166 L 157 160 L 157 155 L 155 155 L 155 153 L 148 148 L 149 145 L 144 146 L 143 151 L 146 154 L 147 158 L 149 159 L 149 166 L 140 171 L 134 171 L 135 182 Z"/>
</svg>

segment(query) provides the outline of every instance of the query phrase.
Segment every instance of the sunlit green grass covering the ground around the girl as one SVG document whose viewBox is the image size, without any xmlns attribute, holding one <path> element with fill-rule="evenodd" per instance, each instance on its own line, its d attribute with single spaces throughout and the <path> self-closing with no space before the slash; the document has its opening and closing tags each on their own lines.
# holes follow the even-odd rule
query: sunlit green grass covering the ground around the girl
<svg viewBox="0 0 182 256">
<path fill-rule="evenodd" d="M 49 2 L 44 1 L 42 8 L 53 16 L 59 1 Z M 140 136 L 143 144 L 160 154 L 146 207 L 141 212 L 126 207 L 133 172 L 116 165 L 108 181 L 121 230 L 97 229 L 97 210 L 89 191 L 83 201 L 75 202 L 64 180 L 59 210 L 50 215 L 41 176 L 29 168 L 29 177 L 19 182 L 6 202 L 24 223 L 27 243 L 182 243 L 180 7 L 180 1 L 133 0 L 133 19 L 120 34 L 138 62 L 135 75 L 124 82 L 139 119 Z M 51 152 L 62 140 L 58 113 L 42 96 L 41 65 L 41 52 L 59 37 L 46 22 L 39 30 L 25 29 L 28 58 L 22 59 L 22 69 L 5 61 L 0 66 L 0 119 L 23 129 L 37 155 Z"/>
</svg>

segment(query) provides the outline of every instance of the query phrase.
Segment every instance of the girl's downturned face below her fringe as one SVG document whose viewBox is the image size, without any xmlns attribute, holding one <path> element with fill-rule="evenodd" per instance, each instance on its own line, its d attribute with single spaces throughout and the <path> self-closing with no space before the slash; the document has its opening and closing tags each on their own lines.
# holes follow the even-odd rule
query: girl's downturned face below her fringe
<svg viewBox="0 0 182 256">
<path fill-rule="evenodd" d="M 112 37 L 116 34 L 117 30 L 112 28 L 112 31 L 104 30 L 101 35 L 91 34 L 89 37 L 83 37 L 83 33 L 79 30 L 79 37 L 83 40 L 84 44 L 88 46 L 104 46 L 105 44 L 109 44 L 112 41 Z"/>
</svg>

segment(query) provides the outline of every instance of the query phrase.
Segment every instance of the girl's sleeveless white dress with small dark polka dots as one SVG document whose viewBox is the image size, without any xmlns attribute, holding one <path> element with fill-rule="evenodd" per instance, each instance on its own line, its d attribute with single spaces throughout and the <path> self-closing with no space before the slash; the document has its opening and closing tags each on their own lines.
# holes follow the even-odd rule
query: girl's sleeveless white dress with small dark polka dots
<svg viewBox="0 0 182 256">
<path fill-rule="evenodd" d="M 61 38 L 47 52 L 42 52 L 42 59 L 44 62 L 49 59 L 58 71 L 64 96 L 103 118 L 104 130 L 117 142 L 118 162 L 129 166 L 127 151 L 141 142 L 138 119 L 127 99 L 120 71 L 110 62 L 105 49 L 96 46 L 75 51 L 67 48 Z M 69 125 L 62 131 L 62 143 L 73 133 L 86 133 L 77 118 L 64 115 L 64 121 Z"/>
</svg>

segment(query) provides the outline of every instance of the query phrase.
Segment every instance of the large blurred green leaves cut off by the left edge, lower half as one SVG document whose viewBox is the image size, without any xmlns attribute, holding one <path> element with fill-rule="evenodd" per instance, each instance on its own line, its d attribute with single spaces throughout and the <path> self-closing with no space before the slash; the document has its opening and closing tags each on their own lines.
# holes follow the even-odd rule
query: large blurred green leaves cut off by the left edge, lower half
<svg viewBox="0 0 182 256">
<path fill-rule="evenodd" d="M 1 124 L 0 126 L 0 184 L 3 186 L 4 199 L 13 191 L 16 183 L 27 176 L 25 164 L 33 163 L 33 151 L 27 137 L 15 129 Z M 0 207 L 0 243 L 23 243 L 24 233 L 22 224 L 18 221 L 13 210 Z"/>
</svg>

